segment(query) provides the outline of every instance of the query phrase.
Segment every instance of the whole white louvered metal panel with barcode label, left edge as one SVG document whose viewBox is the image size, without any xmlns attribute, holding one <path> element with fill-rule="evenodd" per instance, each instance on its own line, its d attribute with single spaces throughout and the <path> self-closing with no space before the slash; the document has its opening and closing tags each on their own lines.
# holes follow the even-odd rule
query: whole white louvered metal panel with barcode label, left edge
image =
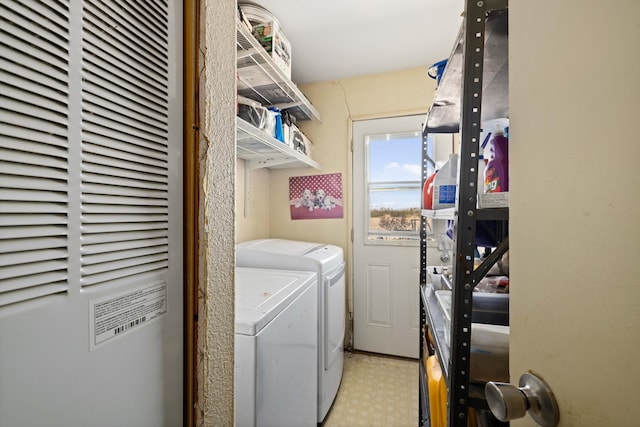
<svg viewBox="0 0 640 427">
<path fill-rule="evenodd" d="M 0 2 L 0 426 L 179 426 L 182 2 Z"/>
</svg>

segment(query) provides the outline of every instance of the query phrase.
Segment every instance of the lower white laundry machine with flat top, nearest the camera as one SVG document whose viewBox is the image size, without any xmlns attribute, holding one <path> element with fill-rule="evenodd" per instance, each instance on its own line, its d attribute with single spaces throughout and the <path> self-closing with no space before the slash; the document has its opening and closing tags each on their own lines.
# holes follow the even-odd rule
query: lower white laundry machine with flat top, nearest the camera
<svg viewBox="0 0 640 427">
<path fill-rule="evenodd" d="M 306 271 L 236 268 L 237 426 L 316 426 L 316 277 Z"/>
</svg>

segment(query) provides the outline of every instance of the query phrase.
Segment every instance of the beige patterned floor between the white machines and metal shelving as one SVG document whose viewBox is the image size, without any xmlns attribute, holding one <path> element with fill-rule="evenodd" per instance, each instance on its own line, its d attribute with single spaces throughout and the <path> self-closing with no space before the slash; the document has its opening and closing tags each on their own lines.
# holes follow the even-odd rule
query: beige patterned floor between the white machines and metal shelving
<svg viewBox="0 0 640 427">
<path fill-rule="evenodd" d="M 323 427 L 416 427 L 418 361 L 345 353 L 344 373 Z"/>
</svg>

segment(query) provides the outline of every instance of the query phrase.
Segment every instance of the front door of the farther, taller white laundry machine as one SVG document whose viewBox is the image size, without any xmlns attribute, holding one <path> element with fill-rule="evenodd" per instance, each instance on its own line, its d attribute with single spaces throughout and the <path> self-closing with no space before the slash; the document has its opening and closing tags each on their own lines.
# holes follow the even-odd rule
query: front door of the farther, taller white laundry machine
<svg viewBox="0 0 640 427">
<path fill-rule="evenodd" d="M 342 353 L 345 334 L 344 262 L 324 277 L 324 369 L 328 370 Z"/>
</svg>

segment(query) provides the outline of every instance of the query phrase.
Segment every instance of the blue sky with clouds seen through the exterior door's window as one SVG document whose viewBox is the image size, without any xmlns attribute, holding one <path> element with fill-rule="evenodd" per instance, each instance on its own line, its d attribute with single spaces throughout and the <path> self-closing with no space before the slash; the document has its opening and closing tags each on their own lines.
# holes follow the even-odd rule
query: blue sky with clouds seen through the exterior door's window
<svg viewBox="0 0 640 427">
<path fill-rule="evenodd" d="M 369 175 L 371 182 L 420 181 L 422 139 L 407 136 L 387 141 L 386 138 L 372 137 L 369 140 Z M 419 208 L 421 190 L 374 191 L 371 207 L 391 209 Z"/>
</svg>

